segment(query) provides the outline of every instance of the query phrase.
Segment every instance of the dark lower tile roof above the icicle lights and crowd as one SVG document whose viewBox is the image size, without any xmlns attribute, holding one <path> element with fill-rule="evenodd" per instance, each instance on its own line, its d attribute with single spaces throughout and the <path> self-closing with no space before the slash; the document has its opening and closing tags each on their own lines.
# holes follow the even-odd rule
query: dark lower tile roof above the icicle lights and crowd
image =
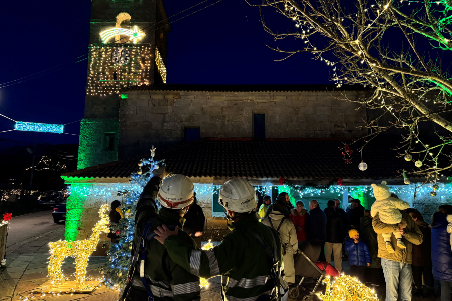
<svg viewBox="0 0 452 301">
<path fill-rule="evenodd" d="M 377 144 L 377 143 L 375 143 Z M 184 144 L 170 152 L 158 154 L 165 159 L 166 169 L 189 177 L 228 179 L 298 180 L 391 179 L 402 169 L 412 170 L 413 162 L 397 157 L 389 147 L 368 145 L 364 149 L 366 171 L 360 171 L 360 153 L 355 149 L 352 164 L 344 164 L 342 143 L 331 140 L 299 141 L 197 141 Z M 354 147 L 352 147 L 352 150 Z M 128 177 L 137 171 L 139 158 L 119 160 L 89 167 L 63 176 L 72 178 Z"/>
</svg>

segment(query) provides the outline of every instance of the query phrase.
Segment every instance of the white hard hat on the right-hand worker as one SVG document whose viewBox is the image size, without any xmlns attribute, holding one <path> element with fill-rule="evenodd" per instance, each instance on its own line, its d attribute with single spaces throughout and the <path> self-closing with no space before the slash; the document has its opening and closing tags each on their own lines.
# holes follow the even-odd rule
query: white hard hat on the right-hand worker
<svg viewBox="0 0 452 301">
<path fill-rule="evenodd" d="M 234 178 L 221 186 L 218 203 L 237 213 L 249 212 L 256 207 L 256 191 L 248 181 Z"/>
</svg>

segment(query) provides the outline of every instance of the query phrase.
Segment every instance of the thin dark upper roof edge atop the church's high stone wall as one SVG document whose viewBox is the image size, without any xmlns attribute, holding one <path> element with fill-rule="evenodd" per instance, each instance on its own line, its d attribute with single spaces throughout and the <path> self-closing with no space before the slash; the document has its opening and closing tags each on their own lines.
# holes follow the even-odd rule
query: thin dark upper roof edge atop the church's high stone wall
<svg viewBox="0 0 452 301">
<path fill-rule="evenodd" d="M 202 84 L 162 84 L 155 86 L 130 86 L 121 92 L 130 91 L 198 91 L 198 92 L 309 92 L 309 91 L 365 91 L 360 85 L 202 85 Z"/>
</svg>

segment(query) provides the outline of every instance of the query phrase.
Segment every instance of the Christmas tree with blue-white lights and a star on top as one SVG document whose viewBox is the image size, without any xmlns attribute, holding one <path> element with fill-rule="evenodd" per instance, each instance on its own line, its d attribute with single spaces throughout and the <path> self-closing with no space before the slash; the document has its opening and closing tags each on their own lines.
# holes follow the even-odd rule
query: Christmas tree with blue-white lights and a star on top
<svg viewBox="0 0 452 301">
<path fill-rule="evenodd" d="M 111 223 L 109 226 L 110 231 L 118 235 L 117 243 L 102 242 L 103 248 L 110 245 L 107 251 L 110 260 L 100 269 L 100 273 L 104 274 L 104 284 L 110 288 L 122 287 L 126 282 L 135 232 L 135 208 L 138 197 L 152 178 L 152 172 L 157 168 L 157 164 L 163 162 L 163 160 L 155 162 L 153 155 L 154 152 L 151 158 L 141 159 L 138 163 L 137 172 L 130 176 L 131 189 L 118 192 L 119 197 L 124 196 L 121 204 L 124 217 L 118 223 Z"/>
</svg>

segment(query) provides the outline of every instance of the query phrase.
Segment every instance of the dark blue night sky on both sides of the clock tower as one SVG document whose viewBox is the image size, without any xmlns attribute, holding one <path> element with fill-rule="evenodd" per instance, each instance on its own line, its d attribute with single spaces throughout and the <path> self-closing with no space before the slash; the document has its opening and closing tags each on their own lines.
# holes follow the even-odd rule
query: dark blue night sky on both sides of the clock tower
<svg viewBox="0 0 452 301">
<path fill-rule="evenodd" d="M 198 2 L 200 0 L 164 0 L 168 16 Z M 214 2 L 209 0 L 196 9 Z M 16 121 L 55 124 L 83 118 L 87 60 L 70 62 L 88 52 L 91 1 L 8 1 L 2 4 L 2 10 L 7 13 L 3 14 L 2 22 L 5 34 L 0 49 L 3 58 L 0 86 L 62 65 L 54 72 L 0 88 L 0 114 Z M 114 20 L 115 16 L 111 18 Z M 278 23 L 279 29 L 293 26 L 281 15 L 269 14 L 267 20 L 270 24 Z M 287 40 L 276 44 L 264 32 L 259 10 L 248 6 L 244 0 L 223 0 L 172 23 L 171 27 L 167 59 L 169 83 L 330 83 L 328 66 L 312 60 L 310 54 L 297 54 L 276 62 L 281 54 L 270 50 L 266 44 L 296 49 L 300 43 Z M 0 131 L 13 128 L 13 121 L 0 116 Z M 79 123 L 67 125 L 65 132 L 78 134 Z M 77 136 L 53 133 L 12 131 L 0 133 L 0 138 L 78 143 Z"/>
</svg>

